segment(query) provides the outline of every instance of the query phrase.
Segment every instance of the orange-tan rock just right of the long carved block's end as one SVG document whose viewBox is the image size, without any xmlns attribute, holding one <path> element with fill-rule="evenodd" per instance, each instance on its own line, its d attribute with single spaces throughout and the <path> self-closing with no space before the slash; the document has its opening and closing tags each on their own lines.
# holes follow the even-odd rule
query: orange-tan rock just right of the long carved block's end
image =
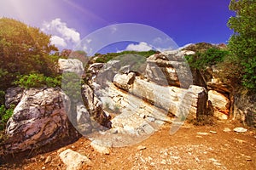
<svg viewBox="0 0 256 170">
<path fill-rule="evenodd" d="M 212 103 L 214 116 L 222 120 L 228 119 L 230 111 L 230 99 L 224 96 L 224 94 L 210 90 L 208 92 L 208 100 Z"/>
</svg>

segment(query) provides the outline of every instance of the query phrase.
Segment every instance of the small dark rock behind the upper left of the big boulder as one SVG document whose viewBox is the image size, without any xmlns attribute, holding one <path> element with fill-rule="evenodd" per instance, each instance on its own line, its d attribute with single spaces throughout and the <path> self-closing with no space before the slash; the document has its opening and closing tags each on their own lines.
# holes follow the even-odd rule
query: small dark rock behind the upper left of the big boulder
<svg viewBox="0 0 256 170">
<path fill-rule="evenodd" d="M 10 105 L 18 105 L 23 94 L 23 88 L 8 88 L 5 94 L 5 107 L 9 108 Z"/>
</svg>

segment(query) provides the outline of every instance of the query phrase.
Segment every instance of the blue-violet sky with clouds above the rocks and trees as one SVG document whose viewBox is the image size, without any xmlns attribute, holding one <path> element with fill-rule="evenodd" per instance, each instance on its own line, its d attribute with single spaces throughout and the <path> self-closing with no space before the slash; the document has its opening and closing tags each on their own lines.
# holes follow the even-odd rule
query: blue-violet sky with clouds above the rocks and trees
<svg viewBox="0 0 256 170">
<path fill-rule="evenodd" d="M 154 27 L 181 47 L 195 42 L 226 43 L 233 32 L 227 27 L 234 15 L 229 3 L 230 0 L 0 0 L 0 16 L 39 27 L 52 35 L 52 42 L 60 49 L 74 48 L 91 32 L 121 23 Z M 123 42 L 102 52 L 125 50 L 129 45 L 138 50 L 150 48 L 147 42 Z"/>
</svg>

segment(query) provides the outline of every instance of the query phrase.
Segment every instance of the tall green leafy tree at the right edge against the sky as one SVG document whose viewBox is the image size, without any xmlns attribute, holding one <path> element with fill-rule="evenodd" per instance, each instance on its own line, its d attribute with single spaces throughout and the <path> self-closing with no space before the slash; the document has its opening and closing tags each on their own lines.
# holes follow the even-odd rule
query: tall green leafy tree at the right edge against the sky
<svg viewBox="0 0 256 170">
<path fill-rule="evenodd" d="M 231 0 L 230 10 L 235 11 L 236 16 L 228 22 L 234 30 L 228 47 L 240 62 L 243 85 L 256 89 L 256 1 Z"/>
</svg>

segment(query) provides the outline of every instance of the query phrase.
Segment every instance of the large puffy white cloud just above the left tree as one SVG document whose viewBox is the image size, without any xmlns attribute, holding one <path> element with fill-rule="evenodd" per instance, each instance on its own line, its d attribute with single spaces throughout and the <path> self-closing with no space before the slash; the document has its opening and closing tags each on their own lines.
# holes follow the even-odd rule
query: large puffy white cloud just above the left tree
<svg viewBox="0 0 256 170">
<path fill-rule="evenodd" d="M 62 47 L 67 47 L 67 45 L 74 46 L 80 41 L 80 34 L 73 28 L 67 27 L 67 23 L 62 22 L 60 18 L 51 20 L 49 22 L 44 21 L 42 31 L 45 31 L 53 37 L 51 42 L 55 45 L 60 45 Z"/>
</svg>

